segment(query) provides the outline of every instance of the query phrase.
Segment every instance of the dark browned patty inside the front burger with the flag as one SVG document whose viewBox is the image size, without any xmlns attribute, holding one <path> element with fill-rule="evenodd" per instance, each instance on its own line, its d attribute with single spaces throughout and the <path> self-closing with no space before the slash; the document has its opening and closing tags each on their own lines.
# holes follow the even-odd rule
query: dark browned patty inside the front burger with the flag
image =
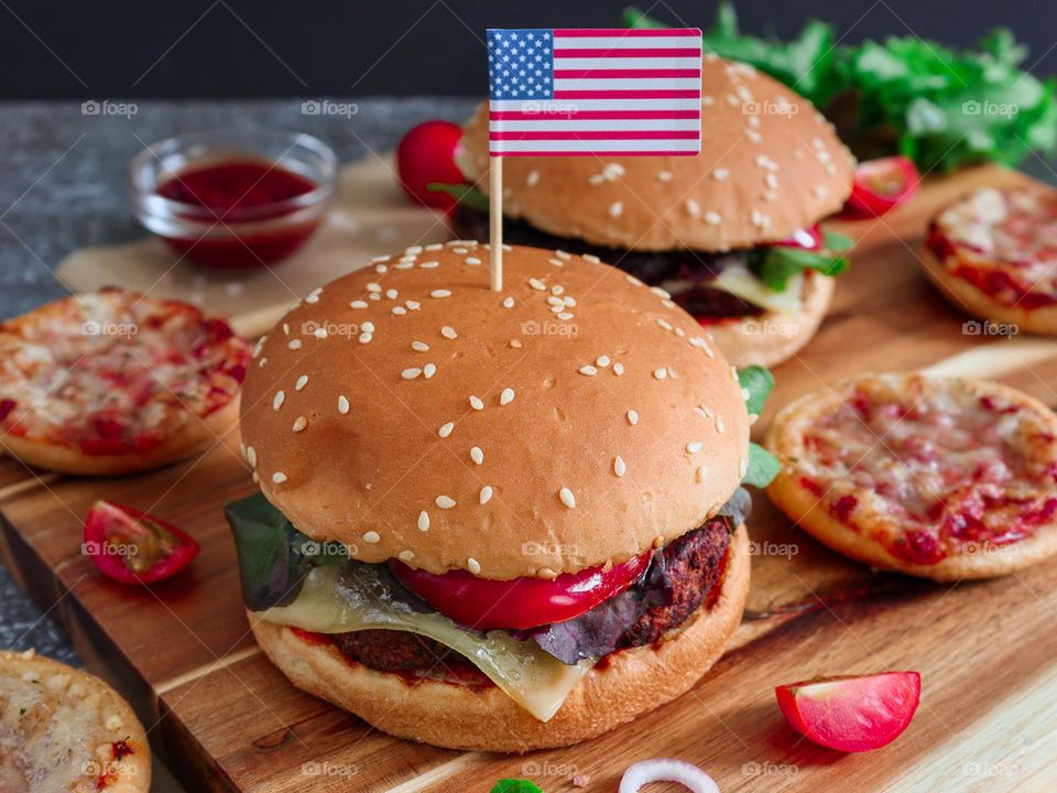
<svg viewBox="0 0 1057 793">
<path fill-rule="evenodd" d="M 717 518 L 665 545 L 632 587 L 642 589 L 643 602 L 657 605 L 642 610 L 615 647 L 624 650 L 652 644 L 701 606 L 710 607 L 719 596 L 729 544 L 727 522 Z M 596 608 L 603 609 L 606 604 Z M 363 630 L 330 638 L 348 658 L 373 670 L 460 680 L 483 677 L 467 659 L 417 633 Z"/>
</svg>

